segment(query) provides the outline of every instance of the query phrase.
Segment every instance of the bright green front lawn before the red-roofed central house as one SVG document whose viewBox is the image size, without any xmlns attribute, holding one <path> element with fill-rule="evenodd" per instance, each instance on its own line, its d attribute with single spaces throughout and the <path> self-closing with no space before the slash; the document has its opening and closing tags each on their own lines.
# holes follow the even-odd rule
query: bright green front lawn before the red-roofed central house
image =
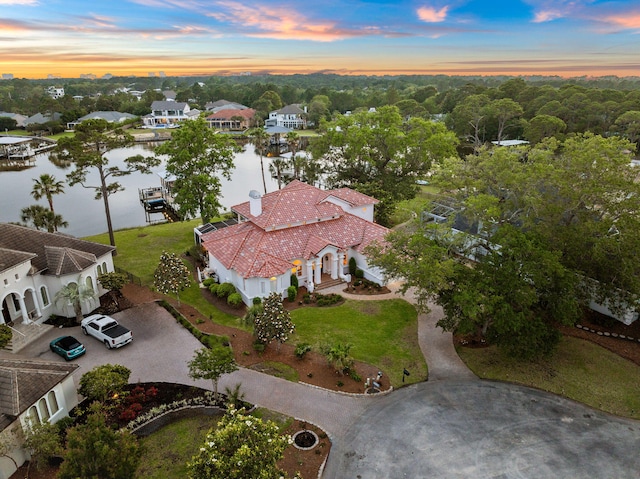
<svg viewBox="0 0 640 479">
<path fill-rule="evenodd" d="M 404 368 L 411 373 L 405 384 L 427 378 L 418 346 L 418 315 L 402 299 L 300 308 L 291 312 L 291 319 L 296 325 L 291 344 L 309 343 L 319 351 L 325 345 L 349 343 L 354 359 L 383 369 L 394 387 L 402 385 Z"/>
</svg>

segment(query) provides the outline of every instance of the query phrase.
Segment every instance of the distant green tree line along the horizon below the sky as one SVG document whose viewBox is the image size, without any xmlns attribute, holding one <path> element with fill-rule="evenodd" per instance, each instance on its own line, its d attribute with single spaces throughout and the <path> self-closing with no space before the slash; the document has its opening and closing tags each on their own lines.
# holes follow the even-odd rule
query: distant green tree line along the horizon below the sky
<svg viewBox="0 0 640 479">
<path fill-rule="evenodd" d="M 57 100 L 46 87 L 58 85 Z M 144 91 L 138 101 L 123 88 Z M 111 79 L 13 79 L 0 82 L 0 110 L 32 115 L 61 113 L 61 125 L 92 111 L 115 110 L 142 116 L 163 90 L 177 101 L 204 110 L 207 102 L 225 99 L 255 108 L 261 118 L 288 104 L 307 107 L 318 125 L 335 114 L 395 105 L 404 117 L 444 115 L 447 126 L 472 146 L 522 138 L 534 143 L 548 136 L 586 131 L 640 136 L 640 78 L 601 77 L 460 77 L 255 75 L 210 77 L 113 77 Z M 74 96 L 82 96 L 75 100 Z M 510 100 L 510 101 L 509 101 Z M 53 126 L 49 125 L 48 129 Z"/>
</svg>

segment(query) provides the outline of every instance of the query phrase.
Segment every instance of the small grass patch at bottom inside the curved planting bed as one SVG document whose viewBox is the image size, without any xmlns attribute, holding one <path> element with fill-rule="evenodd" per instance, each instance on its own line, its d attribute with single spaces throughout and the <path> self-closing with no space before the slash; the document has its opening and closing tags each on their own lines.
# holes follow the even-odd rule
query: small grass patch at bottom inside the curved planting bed
<svg viewBox="0 0 640 479">
<path fill-rule="evenodd" d="M 222 416 L 198 415 L 175 421 L 142 439 L 139 479 L 187 477 L 187 462 Z"/>
</svg>

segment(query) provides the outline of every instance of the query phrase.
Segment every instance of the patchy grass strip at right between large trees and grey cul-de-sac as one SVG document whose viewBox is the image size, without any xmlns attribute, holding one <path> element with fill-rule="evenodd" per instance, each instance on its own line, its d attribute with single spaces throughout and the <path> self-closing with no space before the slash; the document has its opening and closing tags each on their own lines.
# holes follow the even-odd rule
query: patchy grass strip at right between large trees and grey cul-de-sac
<svg viewBox="0 0 640 479">
<path fill-rule="evenodd" d="M 458 348 L 484 379 L 524 384 L 618 416 L 640 419 L 640 366 L 582 339 L 565 337 L 549 360 L 518 362 L 495 347 Z"/>
</svg>

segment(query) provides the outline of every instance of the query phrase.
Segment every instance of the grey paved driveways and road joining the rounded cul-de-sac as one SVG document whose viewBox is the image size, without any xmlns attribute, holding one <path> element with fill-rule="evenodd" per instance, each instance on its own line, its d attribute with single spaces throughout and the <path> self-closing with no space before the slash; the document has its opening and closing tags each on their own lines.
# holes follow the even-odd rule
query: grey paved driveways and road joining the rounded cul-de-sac
<svg viewBox="0 0 640 479">
<path fill-rule="evenodd" d="M 640 422 L 478 380 L 455 356 L 450 336 L 434 328 L 438 314 L 419 320 L 426 383 L 353 397 L 241 369 L 223 377 L 221 388 L 241 383 L 248 401 L 327 431 L 333 445 L 325 479 L 640 477 Z M 87 346 L 78 378 L 95 365 L 118 363 L 132 370 L 131 382 L 211 387 L 188 377 L 187 362 L 200 344 L 164 309 L 150 303 L 114 317 L 133 330 L 133 343 L 107 350 L 76 328 Z M 21 355 L 62 361 L 48 350 L 59 334 L 51 331 Z"/>
</svg>

